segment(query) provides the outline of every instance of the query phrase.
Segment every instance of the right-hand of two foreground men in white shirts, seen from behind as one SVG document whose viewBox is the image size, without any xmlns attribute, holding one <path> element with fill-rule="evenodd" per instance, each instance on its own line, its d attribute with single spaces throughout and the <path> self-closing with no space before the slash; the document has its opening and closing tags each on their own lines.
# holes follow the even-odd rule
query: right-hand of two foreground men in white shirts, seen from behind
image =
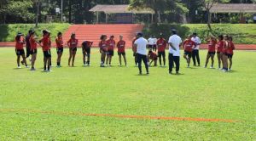
<svg viewBox="0 0 256 141">
<path fill-rule="evenodd" d="M 173 62 L 176 65 L 176 74 L 179 73 L 180 51 L 182 45 L 181 37 L 177 36 L 177 31 L 172 30 L 172 36 L 169 38 L 169 73 L 172 74 Z"/>
</svg>

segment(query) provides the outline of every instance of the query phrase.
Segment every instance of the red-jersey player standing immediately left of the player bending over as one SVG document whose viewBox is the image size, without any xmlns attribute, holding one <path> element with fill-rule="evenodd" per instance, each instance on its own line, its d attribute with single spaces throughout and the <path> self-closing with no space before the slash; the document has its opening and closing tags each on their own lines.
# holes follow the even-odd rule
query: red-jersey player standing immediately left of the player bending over
<svg viewBox="0 0 256 141">
<path fill-rule="evenodd" d="M 72 33 L 70 39 L 67 41 L 67 46 L 69 47 L 69 58 L 68 66 L 70 66 L 70 61 L 72 59 L 72 66 L 74 66 L 74 60 L 78 50 L 79 40 L 76 39 L 76 34 Z"/>
</svg>

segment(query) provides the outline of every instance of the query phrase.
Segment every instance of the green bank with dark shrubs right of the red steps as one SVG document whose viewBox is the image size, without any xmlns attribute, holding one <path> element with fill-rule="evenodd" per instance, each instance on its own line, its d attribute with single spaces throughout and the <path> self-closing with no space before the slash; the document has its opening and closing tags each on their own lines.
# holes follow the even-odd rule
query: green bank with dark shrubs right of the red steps
<svg viewBox="0 0 256 141">
<path fill-rule="evenodd" d="M 172 35 L 171 30 L 176 29 L 178 34 L 185 38 L 193 32 L 205 39 L 210 36 L 207 25 L 205 24 L 159 24 L 146 25 L 144 32 L 146 37 L 149 35 L 158 36 L 160 32 L 168 38 Z M 234 42 L 245 44 L 256 44 L 256 25 L 255 24 L 212 24 L 212 30 L 215 35 L 227 34 L 233 36 Z M 203 41 L 203 40 L 202 40 Z M 205 42 L 205 41 L 203 41 Z"/>
</svg>

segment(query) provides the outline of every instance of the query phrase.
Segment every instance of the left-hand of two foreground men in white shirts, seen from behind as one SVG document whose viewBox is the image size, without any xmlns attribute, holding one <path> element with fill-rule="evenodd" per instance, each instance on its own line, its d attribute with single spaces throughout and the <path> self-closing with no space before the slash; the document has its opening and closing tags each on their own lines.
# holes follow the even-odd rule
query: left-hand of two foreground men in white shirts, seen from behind
<svg viewBox="0 0 256 141">
<path fill-rule="evenodd" d="M 134 48 L 137 48 L 137 63 L 139 68 L 139 74 L 142 75 L 142 61 L 145 65 L 147 74 L 149 74 L 148 71 L 148 56 L 147 56 L 147 45 L 148 41 L 147 39 L 143 38 L 143 33 L 139 32 L 137 33 L 138 39 L 134 42 Z"/>
</svg>

